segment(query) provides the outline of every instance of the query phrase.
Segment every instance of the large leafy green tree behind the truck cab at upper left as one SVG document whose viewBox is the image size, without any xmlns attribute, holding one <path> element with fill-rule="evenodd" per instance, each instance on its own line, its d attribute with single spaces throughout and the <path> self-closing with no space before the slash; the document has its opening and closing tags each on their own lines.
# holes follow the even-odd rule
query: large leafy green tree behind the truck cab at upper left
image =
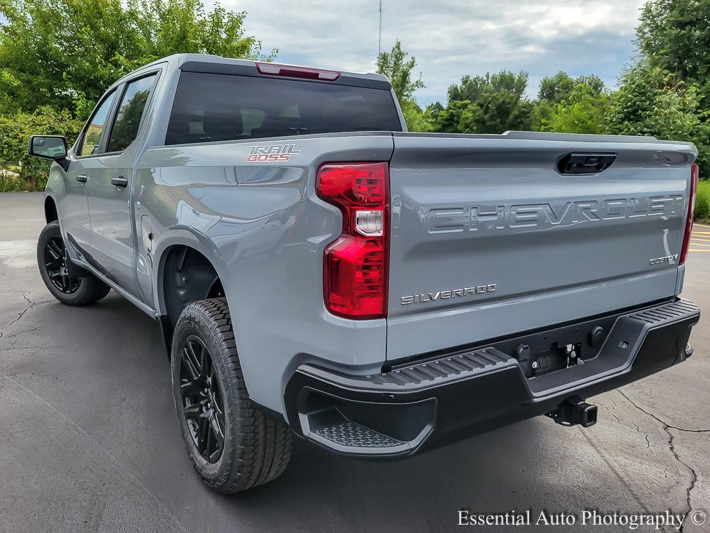
<svg viewBox="0 0 710 533">
<path fill-rule="evenodd" d="M 0 14 L 0 112 L 84 115 L 112 82 L 164 55 L 261 54 L 244 12 L 205 12 L 200 0 L 0 0 Z"/>
</svg>

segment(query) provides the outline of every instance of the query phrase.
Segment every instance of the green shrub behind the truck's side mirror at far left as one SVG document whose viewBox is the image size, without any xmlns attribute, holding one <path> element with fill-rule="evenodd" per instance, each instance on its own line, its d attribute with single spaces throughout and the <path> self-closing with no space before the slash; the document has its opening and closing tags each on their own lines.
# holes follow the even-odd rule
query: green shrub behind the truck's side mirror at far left
<svg viewBox="0 0 710 533">
<path fill-rule="evenodd" d="M 0 115 L 0 192 L 45 188 L 50 161 L 27 155 L 31 135 L 63 135 L 72 144 L 81 128 L 82 122 L 68 111 L 50 107 Z"/>
</svg>

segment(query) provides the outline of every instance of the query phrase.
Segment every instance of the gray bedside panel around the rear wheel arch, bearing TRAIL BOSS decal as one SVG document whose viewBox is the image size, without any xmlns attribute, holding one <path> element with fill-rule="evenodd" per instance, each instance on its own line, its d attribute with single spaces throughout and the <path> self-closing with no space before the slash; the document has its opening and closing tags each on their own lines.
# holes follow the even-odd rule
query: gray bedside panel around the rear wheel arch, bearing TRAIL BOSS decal
<svg viewBox="0 0 710 533">
<path fill-rule="evenodd" d="M 249 147 L 293 144 L 288 162 L 251 162 Z M 148 149 L 136 168 L 138 281 L 165 313 L 161 264 L 175 244 L 217 269 L 234 322 L 250 396 L 283 411 L 283 387 L 301 362 L 377 367 L 386 321 L 349 321 L 323 303 L 324 248 L 340 234 L 339 210 L 315 196 L 326 161 L 388 161 L 390 134 L 297 136 Z"/>
</svg>

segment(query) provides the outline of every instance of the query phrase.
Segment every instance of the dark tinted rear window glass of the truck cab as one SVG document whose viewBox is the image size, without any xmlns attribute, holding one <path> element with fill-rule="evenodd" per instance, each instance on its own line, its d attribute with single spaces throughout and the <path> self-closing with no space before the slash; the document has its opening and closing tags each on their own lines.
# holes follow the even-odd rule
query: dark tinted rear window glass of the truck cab
<svg viewBox="0 0 710 533">
<path fill-rule="evenodd" d="M 402 131 L 388 90 L 182 72 L 165 144 Z"/>
</svg>

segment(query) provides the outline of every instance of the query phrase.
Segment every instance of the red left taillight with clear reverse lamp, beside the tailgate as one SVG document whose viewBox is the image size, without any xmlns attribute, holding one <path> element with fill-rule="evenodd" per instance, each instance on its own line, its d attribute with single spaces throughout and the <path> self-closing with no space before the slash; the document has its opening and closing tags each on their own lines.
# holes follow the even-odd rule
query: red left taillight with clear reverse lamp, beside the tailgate
<svg viewBox="0 0 710 533">
<path fill-rule="evenodd" d="M 316 191 L 343 213 L 343 229 L 324 253 L 325 306 L 346 318 L 387 315 L 389 170 L 387 163 L 326 163 Z"/>
</svg>

